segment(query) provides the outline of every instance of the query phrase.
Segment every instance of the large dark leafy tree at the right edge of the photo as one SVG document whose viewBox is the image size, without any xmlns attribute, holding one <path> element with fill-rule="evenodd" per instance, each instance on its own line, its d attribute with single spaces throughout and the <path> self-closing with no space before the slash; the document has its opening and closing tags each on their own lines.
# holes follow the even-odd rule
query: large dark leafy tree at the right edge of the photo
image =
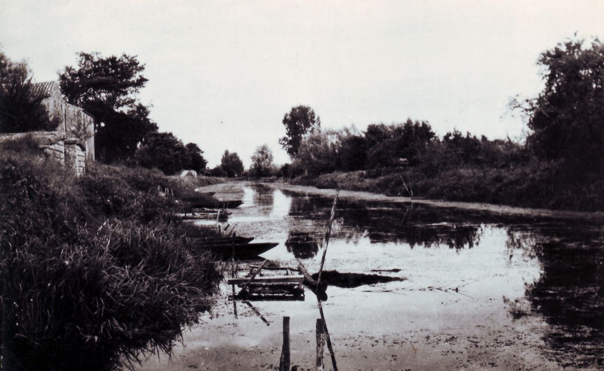
<svg viewBox="0 0 604 371">
<path fill-rule="evenodd" d="M 604 169 L 604 44 L 594 38 L 557 44 L 541 54 L 545 87 L 519 103 L 532 131 L 527 144 L 539 157 L 562 160 L 573 172 Z"/>
</svg>

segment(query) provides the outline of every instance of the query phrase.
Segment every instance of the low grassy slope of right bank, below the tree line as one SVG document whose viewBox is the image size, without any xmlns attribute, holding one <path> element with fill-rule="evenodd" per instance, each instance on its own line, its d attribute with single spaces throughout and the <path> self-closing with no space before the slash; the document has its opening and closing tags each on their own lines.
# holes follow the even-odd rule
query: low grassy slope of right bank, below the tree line
<svg viewBox="0 0 604 371">
<path fill-rule="evenodd" d="M 425 199 L 577 211 L 604 210 L 604 178 L 573 179 L 555 163 L 509 168 L 464 166 L 426 174 L 420 168 L 331 172 L 294 184 Z"/>
</svg>

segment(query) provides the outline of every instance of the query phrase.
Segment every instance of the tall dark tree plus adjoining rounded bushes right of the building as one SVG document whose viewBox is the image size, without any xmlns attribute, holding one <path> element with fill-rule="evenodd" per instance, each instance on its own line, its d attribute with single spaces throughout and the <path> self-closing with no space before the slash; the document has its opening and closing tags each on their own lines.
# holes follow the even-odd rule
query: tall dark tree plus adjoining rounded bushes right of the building
<svg viewBox="0 0 604 371">
<path fill-rule="evenodd" d="M 65 67 L 60 74 L 68 102 L 94 117 L 96 159 L 157 168 L 167 175 L 182 169 L 204 171 L 207 161 L 201 148 L 159 132 L 149 107 L 138 100 L 147 83 L 144 68 L 135 56 L 80 53 L 77 67 Z"/>
</svg>

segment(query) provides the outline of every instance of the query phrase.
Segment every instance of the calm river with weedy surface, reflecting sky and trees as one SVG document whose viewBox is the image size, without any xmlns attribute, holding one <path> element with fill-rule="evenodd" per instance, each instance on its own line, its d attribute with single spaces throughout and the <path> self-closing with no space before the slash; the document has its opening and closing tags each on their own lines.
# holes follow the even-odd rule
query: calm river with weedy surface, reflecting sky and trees
<svg viewBox="0 0 604 371">
<path fill-rule="evenodd" d="M 262 258 L 296 266 L 298 257 L 318 271 L 333 197 L 249 183 L 229 189 L 243 205 L 221 228 L 280 243 Z M 325 269 L 400 280 L 329 287 L 323 309 L 338 368 L 604 368 L 603 224 L 340 199 Z M 312 292 L 303 301 L 254 301 L 269 326 L 228 294 L 222 284 L 213 312 L 171 358 L 153 356 L 140 369 L 276 369 L 283 316 L 291 317 L 292 365 L 314 369 L 320 314 Z"/>
</svg>

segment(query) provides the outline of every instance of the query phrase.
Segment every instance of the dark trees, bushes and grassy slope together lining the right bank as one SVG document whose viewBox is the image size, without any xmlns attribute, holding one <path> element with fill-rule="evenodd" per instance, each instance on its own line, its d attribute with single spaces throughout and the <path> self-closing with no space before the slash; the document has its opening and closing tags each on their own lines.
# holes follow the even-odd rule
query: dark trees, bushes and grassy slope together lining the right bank
<svg viewBox="0 0 604 371">
<path fill-rule="evenodd" d="M 527 119 L 525 143 L 459 131 L 438 137 L 428 122 L 411 119 L 364 132 L 311 129 L 310 117 L 292 126 L 290 113 L 283 122 L 296 129 L 291 142 L 302 139 L 283 142 L 293 161 L 280 175 L 320 188 L 602 211 L 604 45 L 571 40 L 538 64 L 544 90 L 510 102 Z"/>
</svg>

